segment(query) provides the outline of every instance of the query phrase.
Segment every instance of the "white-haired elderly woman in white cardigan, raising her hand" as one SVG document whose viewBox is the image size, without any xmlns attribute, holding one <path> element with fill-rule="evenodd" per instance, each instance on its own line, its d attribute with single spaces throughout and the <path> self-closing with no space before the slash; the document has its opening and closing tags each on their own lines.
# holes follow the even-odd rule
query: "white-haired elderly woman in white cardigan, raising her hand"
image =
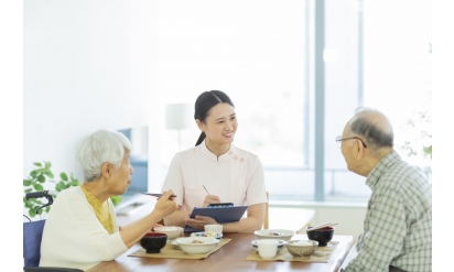
<svg viewBox="0 0 454 272">
<path fill-rule="evenodd" d="M 41 242 L 40 266 L 88 270 L 126 252 L 176 204 L 169 189 L 143 218 L 119 228 L 111 196 L 131 184 L 131 143 L 117 131 L 98 130 L 77 146 L 84 183 L 58 194 L 52 205 Z"/>
</svg>

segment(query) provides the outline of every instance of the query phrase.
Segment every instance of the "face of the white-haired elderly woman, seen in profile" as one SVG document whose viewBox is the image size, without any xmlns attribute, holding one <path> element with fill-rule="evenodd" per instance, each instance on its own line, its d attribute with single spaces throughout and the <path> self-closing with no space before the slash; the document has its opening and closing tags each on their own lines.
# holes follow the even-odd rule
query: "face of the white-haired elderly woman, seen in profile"
<svg viewBox="0 0 454 272">
<path fill-rule="evenodd" d="M 111 187 L 111 192 L 115 195 L 122 195 L 126 193 L 128 189 L 129 185 L 131 184 L 132 181 L 132 173 L 134 172 L 130 162 L 129 162 L 129 150 L 125 150 L 125 156 L 123 160 L 121 161 L 120 167 L 116 168 L 111 166 L 109 168 L 109 183 Z"/>
</svg>

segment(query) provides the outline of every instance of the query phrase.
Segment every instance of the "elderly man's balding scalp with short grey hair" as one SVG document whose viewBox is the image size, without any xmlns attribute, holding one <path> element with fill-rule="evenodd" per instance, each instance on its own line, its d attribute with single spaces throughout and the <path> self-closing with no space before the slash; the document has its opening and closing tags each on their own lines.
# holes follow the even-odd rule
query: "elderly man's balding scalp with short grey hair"
<svg viewBox="0 0 454 272">
<path fill-rule="evenodd" d="M 376 109 L 359 108 L 348 121 L 346 131 L 360 135 L 370 151 L 393 146 L 393 132 L 388 118 Z"/>
</svg>

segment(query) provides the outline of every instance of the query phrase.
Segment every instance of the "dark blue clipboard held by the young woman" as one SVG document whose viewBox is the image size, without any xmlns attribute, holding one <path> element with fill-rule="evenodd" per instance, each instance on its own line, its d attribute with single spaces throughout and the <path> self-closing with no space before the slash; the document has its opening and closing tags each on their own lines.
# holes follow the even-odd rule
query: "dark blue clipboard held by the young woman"
<svg viewBox="0 0 454 272">
<path fill-rule="evenodd" d="M 195 216 L 209 216 L 213 217 L 218 224 L 223 222 L 236 222 L 241 219 L 245 214 L 247 205 L 245 206 L 230 206 L 230 207 L 212 207 L 212 208 L 197 208 L 194 207 L 191 218 Z M 203 231 L 201 229 L 195 229 L 191 226 L 184 226 L 183 231 Z"/>
</svg>

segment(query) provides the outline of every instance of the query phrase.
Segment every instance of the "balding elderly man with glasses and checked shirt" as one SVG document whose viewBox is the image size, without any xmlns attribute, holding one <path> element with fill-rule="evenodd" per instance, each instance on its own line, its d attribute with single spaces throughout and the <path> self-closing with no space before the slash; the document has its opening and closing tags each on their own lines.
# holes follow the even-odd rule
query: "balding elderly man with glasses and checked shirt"
<svg viewBox="0 0 454 272">
<path fill-rule="evenodd" d="M 393 150 L 389 120 L 360 108 L 336 142 L 372 191 L 358 254 L 345 271 L 432 271 L 432 185 Z"/>
</svg>

